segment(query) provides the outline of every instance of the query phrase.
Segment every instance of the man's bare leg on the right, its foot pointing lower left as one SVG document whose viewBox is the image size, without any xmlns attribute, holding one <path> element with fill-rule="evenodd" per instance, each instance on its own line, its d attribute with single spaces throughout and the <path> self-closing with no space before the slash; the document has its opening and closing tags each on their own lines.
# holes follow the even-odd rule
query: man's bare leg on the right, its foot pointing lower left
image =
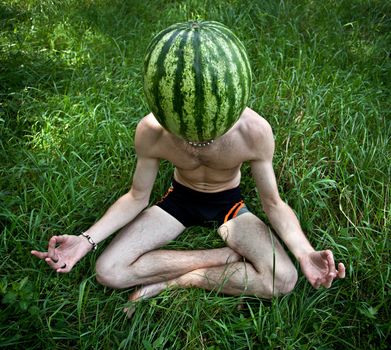
<svg viewBox="0 0 391 350">
<path fill-rule="evenodd" d="M 245 213 L 219 228 L 221 237 L 245 258 L 222 266 L 199 268 L 167 282 L 145 286 L 131 297 L 150 297 L 171 286 L 199 287 L 231 295 L 271 298 L 289 293 L 297 271 L 276 237 L 255 215 Z"/>
</svg>

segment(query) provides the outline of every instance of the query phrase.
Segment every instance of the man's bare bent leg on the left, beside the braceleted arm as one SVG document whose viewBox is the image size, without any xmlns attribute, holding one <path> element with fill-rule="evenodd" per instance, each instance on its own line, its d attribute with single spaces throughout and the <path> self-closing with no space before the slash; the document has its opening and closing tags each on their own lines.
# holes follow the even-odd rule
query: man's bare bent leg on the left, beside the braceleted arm
<svg viewBox="0 0 391 350">
<path fill-rule="evenodd" d="M 125 226 L 96 263 L 97 280 L 112 288 L 153 284 L 198 268 L 238 261 L 232 249 L 156 250 L 175 239 L 185 227 L 157 206 Z"/>
</svg>

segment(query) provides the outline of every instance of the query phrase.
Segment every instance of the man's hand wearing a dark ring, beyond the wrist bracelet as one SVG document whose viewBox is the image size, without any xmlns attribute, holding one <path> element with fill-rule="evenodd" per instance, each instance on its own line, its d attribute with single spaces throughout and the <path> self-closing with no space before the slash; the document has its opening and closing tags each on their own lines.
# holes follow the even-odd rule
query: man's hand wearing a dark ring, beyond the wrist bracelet
<svg viewBox="0 0 391 350">
<path fill-rule="evenodd" d="M 50 238 L 47 252 L 32 250 L 31 254 L 45 260 L 56 272 L 66 273 L 91 249 L 92 245 L 85 237 L 63 235 Z"/>
</svg>

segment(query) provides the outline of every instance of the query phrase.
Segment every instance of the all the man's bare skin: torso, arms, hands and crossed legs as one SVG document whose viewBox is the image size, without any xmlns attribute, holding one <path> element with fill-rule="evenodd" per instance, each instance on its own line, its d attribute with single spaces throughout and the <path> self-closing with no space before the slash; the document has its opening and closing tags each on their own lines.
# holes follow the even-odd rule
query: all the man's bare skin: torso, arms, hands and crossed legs
<svg viewBox="0 0 391 350">
<path fill-rule="evenodd" d="M 100 243 L 120 230 L 96 263 L 99 283 L 112 288 L 140 288 L 130 300 L 157 295 L 168 287 L 199 287 L 230 295 L 271 298 L 292 291 L 297 271 L 277 237 L 255 215 L 245 213 L 218 228 L 226 247 L 209 250 L 157 250 L 178 237 L 185 227 L 157 206 L 145 209 L 159 162 L 175 166 L 177 182 L 201 192 L 237 187 L 240 168 L 249 162 L 263 210 L 274 231 L 299 261 L 314 288 L 329 288 L 345 277 L 330 250 L 315 251 L 293 210 L 281 200 L 272 160 L 270 125 L 250 108 L 211 145 L 195 148 L 164 130 L 152 114 L 137 126 L 137 165 L 132 185 L 86 233 Z M 49 240 L 48 251 L 32 254 L 58 273 L 70 272 L 92 245 L 83 236 L 62 235 Z"/>
</svg>

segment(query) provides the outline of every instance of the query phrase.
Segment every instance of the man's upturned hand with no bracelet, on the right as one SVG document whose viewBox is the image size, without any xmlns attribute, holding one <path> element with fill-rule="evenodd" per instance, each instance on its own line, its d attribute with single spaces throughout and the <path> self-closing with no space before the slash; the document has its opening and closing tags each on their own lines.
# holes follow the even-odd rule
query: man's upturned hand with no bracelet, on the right
<svg viewBox="0 0 391 350">
<path fill-rule="evenodd" d="M 330 250 L 315 251 L 300 259 L 300 267 L 311 285 L 330 288 L 336 278 L 345 278 L 345 266 L 339 263 L 335 268 L 334 256 Z"/>
</svg>

